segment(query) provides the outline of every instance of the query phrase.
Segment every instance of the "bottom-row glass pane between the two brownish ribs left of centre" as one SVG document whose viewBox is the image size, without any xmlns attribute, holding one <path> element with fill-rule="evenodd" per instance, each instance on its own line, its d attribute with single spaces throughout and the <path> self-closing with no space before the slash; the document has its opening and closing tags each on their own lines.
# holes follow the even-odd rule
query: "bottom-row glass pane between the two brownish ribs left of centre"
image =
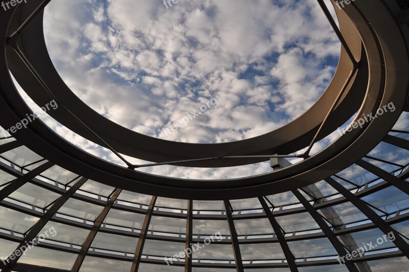
<svg viewBox="0 0 409 272">
<path fill-rule="evenodd" d="M 131 266 L 132 262 L 86 256 L 81 265 L 80 272 L 129 272 L 131 270 Z"/>
</svg>

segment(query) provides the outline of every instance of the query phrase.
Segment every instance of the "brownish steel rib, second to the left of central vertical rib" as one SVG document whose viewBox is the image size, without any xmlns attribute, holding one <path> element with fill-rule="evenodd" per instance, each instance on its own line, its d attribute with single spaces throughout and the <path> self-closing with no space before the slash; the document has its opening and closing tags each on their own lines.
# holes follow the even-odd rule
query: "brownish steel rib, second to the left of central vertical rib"
<svg viewBox="0 0 409 272">
<path fill-rule="evenodd" d="M 85 259 L 85 256 L 88 252 L 89 247 L 93 243 L 95 236 L 98 233 L 99 228 L 101 227 L 102 222 L 104 222 L 105 217 L 107 216 L 109 210 L 111 209 L 113 203 L 117 200 L 119 194 L 121 194 L 122 189 L 116 189 L 111 197 L 109 198 L 108 202 L 106 203 L 105 207 L 103 208 L 102 212 L 99 214 L 97 219 L 95 220 L 93 228 L 89 231 L 88 236 L 86 237 L 84 243 L 82 244 L 81 251 L 77 256 L 77 259 L 74 262 L 73 268 L 71 268 L 71 272 L 78 272 L 81 268 L 82 262 Z"/>
</svg>

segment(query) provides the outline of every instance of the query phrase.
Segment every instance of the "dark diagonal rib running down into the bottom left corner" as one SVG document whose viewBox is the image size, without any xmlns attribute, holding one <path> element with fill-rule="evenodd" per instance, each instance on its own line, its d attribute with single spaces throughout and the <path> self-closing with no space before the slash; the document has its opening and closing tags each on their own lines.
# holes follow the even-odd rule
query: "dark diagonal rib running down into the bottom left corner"
<svg viewBox="0 0 409 272">
<path fill-rule="evenodd" d="M 78 180 L 68 191 L 65 192 L 58 200 L 50 207 L 50 209 L 40 218 L 40 220 L 35 223 L 35 225 L 30 229 L 30 232 L 26 235 L 23 241 L 17 246 L 16 250 L 22 248 L 22 246 L 27 243 L 31 243 L 41 229 L 50 221 L 50 219 L 57 213 L 57 211 L 64 205 L 64 203 L 70 199 L 70 197 L 87 181 L 86 178 L 81 178 Z M 16 252 L 14 250 L 14 252 Z M 7 259 L 8 265 L 2 270 L 3 272 L 10 272 L 14 269 L 15 264 L 20 259 L 20 256 L 15 256 L 13 260 Z"/>
</svg>

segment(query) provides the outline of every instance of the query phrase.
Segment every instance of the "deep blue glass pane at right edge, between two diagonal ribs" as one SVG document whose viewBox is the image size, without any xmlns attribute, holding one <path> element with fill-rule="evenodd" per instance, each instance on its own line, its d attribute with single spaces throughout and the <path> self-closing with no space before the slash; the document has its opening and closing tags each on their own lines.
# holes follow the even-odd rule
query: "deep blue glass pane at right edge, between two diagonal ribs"
<svg viewBox="0 0 409 272">
<path fill-rule="evenodd" d="M 387 214 L 396 213 L 397 211 L 409 208 L 409 198 L 407 195 L 394 186 L 362 197 L 362 200 Z"/>
</svg>

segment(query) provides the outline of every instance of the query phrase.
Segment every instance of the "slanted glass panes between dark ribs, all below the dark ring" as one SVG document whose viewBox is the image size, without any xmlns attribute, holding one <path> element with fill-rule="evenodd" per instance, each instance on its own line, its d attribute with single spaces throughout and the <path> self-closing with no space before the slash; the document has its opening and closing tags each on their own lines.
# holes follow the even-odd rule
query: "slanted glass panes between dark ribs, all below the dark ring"
<svg viewBox="0 0 409 272">
<path fill-rule="evenodd" d="M 407 118 L 407 115 L 402 114 L 398 122 L 402 122 L 403 118 Z M 400 127 L 401 130 L 408 128 Z M 18 150 L 24 151 L 24 147 Z M 28 158 L 32 159 L 10 155 L 20 154 L 19 157 L 25 158 L 20 151 L 13 149 L 0 154 L 3 188 L 10 184 L 7 182 L 21 175 L 18 173 L 28 162 L 43 159 L 31 151 Z M 368 158 L 375 158 L 377 152 L 392 154 L 379 158 L 383 160 L 382 163 L 392 163 L 393 167 L 384 167 L 375 159 L 367 161 L 391 172 L 391 176 L 407 179 L 407 151 L 381 142 L 368 154 Z M 402 166 L 395 165 L 396 157 L 399 157 Z M 35 168 L 30 171 L 35 171 Z M 358 165 L 351 165 L 332 176 L 332 179 L 385 220 L 405 243 L 409 241 L 409 202 L 406 193 Z M 56 205 L 56 200 L 66 195 L 67 190 L 80 180 L 75 173 L 54 165 L 7 196 L 0 203 L 3 256 L 11 254 L 18 246 L 17 242 L 38 224 L 50 207 Z M 372 214 L 351 203 L 326 180 L 299 190 L 316 214 L 300 204 L 294 192 L 265 196 L 263 200 L 268 210 L 264 210 L 257 198 L 230 200 L 228 207 L 224 206 L 223 201 L 194 200 L 191 204 L 192 231 L 188 227 L 189 200 L 129 191 L 122 191 L 108 208 L 103 221 L 99 221 L 115 191 L 114 187 L 86 180 L 77 194 L 66 199 L 35 236 L 38 240 L 45 233 L 50 235 L 21 256 L 17 264 L 70 270 L 81 255 L 81 248 L 87 246 L 80 271 L 128 271 L 135 254 L 141 254 L 139 271 L 182 271 L 185 258 L 175 256 L 185 252 L 186 239 L 191 236 L 192 243 L 199 246 L 191 248 L 195 249 L 190 256 L 192 271 L 233 271 L 237 261 L 235 250 L 239 250 L 244 271 L 289 271 L 283 243 L 288 246 L 299 271 L 347 271 L 345 264 L 337 264 L 339 253 L 334 242 L 314 218 L 314 215 L 319 215 L 339 245 L 346 250 L 345 254 L 352 254 L 364 244 L 377 245 L 367 248 L 362 257 L 353 259 L 358 268 L 365 266 L 373 271 L 382 271 L 380 267 L 384 267 L 384 263 L 390 263 L 394 269 L 409 265 L 407 258 L 397 257 L 402 253 L 394 243 L 395 233 L 384 234 L 373 223 Z M 149 204 L 153 198 L 155 205 L 150 212 Z M 232 215 L 233 225 L 230 224 L 229 214 Z M 149 224 L 145 227 L 147 218 Z M 95 226 L 98 228 L 93 235 Z M 143 238 L 144 232 L 146 238 Z M 88 244 L 87 239 L 91 235 L 94 238 Z M 141 239 L 143 247 L 138 253 Z M 382 258 L 382 262 L 377 258 Z M 168 266 L 167 261 L 173 264 Z M 258 265 L 269 268 L 259 268 Z"/>
</svg>

